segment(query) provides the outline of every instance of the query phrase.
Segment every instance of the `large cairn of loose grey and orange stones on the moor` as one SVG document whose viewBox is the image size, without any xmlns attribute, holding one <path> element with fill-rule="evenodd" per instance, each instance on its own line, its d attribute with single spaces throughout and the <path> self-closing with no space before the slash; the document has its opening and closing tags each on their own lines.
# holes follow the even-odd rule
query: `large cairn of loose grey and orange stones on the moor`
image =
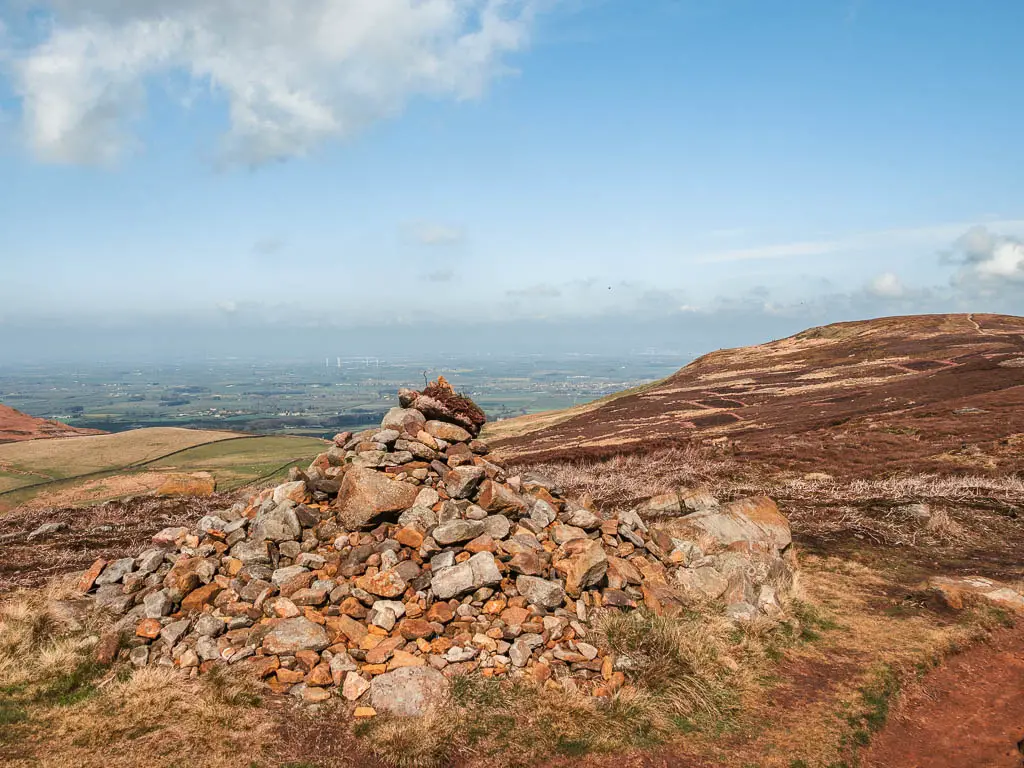
<svg viewBox="0 0 1024 768">
<path fill-rule="evenodd" d="M 372 689 L 414 714 L 467 671 L 608 694 L 624 663 L 588 642 L 602 611 L 780 609 L 795 562 L 769 499 L 602 514 L 488 460 L 482 413 L 443 380 L 399 400 L 289 482 L 94 563 L 80 587 L 121 614 L 121 652 L 194 674 L 246 665 L 310 701 Z"/>
</svg>

